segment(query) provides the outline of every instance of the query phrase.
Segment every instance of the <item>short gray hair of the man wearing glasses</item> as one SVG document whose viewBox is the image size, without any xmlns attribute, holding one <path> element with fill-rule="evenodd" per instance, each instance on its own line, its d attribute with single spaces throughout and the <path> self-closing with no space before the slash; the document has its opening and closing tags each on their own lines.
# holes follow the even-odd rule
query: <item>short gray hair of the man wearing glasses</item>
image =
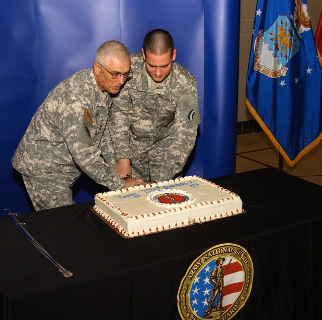
<svg viewBox="0 0 322 320">
<path fill-rule="evenodd" d="M 96 52 L 94 62 L 102 63 L 112 58 L 118 58 L 121 61 L 130 60 L 130 53 L 123 43 L 111 40 L 101 44 Z"/>
</svg>

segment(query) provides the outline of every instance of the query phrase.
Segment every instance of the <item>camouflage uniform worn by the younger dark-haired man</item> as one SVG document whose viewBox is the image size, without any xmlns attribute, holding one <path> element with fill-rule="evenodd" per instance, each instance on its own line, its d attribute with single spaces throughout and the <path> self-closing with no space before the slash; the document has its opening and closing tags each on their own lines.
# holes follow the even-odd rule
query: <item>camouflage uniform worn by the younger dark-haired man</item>
<svg viewBox="0 0 322 320">
<path fill-rule="evenodd" d="M 197 83 L 174 63 L 153 91 L 141 53 L 131 55 L 133 77 L 114 98 L 109 130 L 115 159 L 131 159 L 132 176 L 164 181 L 181 176 L 200 123 Z"/>
</svg>

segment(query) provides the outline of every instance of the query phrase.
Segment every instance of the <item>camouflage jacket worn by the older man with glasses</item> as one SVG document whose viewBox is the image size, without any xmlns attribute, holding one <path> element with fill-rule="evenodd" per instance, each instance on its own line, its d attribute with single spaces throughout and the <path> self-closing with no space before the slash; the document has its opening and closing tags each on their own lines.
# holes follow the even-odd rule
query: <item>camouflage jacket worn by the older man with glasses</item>
<svg viewBox="0 0 322 320">
<path fill-rule="evenodd" d="M 71 186 L 84 171 L 111 189 L 124 187 L 124 180 L 114 171 L 109 136 L 103 137 L 111 103 L 109 94 L 100 96 L 92 69 L 63 80 L 32 118 L 12 159 L 13 166 L 26 176 L 55 179 L 62 185 Z M 101 156 L 103 145 L 106 161 Z"/>
</svg>

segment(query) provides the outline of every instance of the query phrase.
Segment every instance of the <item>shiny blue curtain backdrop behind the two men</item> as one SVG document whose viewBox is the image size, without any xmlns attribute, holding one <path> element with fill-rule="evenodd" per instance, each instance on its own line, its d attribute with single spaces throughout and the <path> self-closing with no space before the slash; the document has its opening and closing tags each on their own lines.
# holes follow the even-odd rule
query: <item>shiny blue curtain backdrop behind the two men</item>
<svg viewBox="0 0 322 320">
<path fill-rule="evenodd" d="M 0 3 L 0 217 L 33 210 L 11 158 L 48 92 L 92 66 L 99 45 L 140 51 L 151 29 L 168 30 L 177 62 L 196 76 L 201 124 L 185 174 L 212 178 L 235 171 L 239 47 L 238 0 L 3 0 Z M 75 202 L 102 186 L 82 176 Z"/>
</svg>

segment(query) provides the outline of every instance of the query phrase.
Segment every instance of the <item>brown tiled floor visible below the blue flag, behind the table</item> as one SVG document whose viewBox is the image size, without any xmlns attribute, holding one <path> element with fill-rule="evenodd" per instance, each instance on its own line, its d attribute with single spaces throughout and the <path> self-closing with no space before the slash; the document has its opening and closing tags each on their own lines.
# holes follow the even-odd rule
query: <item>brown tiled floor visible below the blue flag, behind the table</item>
<svg viewBox="0 0 322 320">
<path fill-rule="evenodd" d="M 279 168 L 279 153 L 265 132 L 237 136 L 236 173 L 260 168 Z M 283 170 L 322 185 L 322 143 L 304 155 L 293 167 L 283 161 Z"/>
</svg>

